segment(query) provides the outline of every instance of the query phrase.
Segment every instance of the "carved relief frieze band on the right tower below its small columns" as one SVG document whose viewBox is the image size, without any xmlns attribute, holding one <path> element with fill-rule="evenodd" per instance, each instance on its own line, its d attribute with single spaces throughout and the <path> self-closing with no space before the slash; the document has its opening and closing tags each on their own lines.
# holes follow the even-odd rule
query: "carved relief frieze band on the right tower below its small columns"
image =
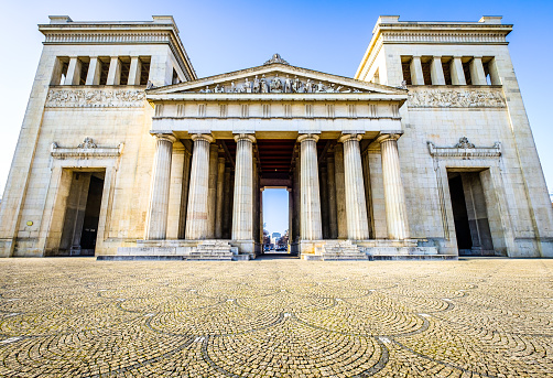
<svg viewBox="0 0 553 378">
<path fill-rule="evenodd" d="M 410 108 L 505 108 L 501 86 L 410 86 Z"/>
</svg>

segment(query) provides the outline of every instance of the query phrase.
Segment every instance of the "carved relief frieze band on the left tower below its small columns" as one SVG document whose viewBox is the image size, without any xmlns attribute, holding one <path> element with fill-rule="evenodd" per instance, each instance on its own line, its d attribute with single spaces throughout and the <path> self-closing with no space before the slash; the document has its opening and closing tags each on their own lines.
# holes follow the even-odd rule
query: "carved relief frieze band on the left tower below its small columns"
<svg viewBox="0 0 553 378">
<path fill-rule="evenodd" d="M 133 108 L 144 105 L 142 89 L 124 88 L 51 88 L 46 107 Z"/>
</svg>

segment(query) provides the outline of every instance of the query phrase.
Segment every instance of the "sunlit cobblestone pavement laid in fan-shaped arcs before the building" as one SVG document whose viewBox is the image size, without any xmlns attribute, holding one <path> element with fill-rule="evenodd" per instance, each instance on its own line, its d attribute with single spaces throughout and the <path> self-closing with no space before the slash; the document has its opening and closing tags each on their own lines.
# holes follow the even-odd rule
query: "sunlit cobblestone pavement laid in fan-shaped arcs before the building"
<svg viewBox="0 0 553 378">
<path fill-rule="evenodd" d="M 2 377 L 553 377 L 553 260 L 0 272 Z"/>
</svg>

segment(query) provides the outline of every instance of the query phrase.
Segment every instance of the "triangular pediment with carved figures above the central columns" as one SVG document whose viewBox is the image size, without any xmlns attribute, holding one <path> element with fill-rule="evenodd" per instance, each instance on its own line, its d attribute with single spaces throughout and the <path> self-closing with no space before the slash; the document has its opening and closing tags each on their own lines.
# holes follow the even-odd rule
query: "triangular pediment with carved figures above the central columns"
<svg viewBox="0 0 553 378">
<path fill-rule="evenodd" d="M 148 90 L 148 95 L 176 94 L 381 94 L 405 95 L 406 90 L 325 74 L 283 64 L 262 66 L 204 77 Z"/>
</svg>

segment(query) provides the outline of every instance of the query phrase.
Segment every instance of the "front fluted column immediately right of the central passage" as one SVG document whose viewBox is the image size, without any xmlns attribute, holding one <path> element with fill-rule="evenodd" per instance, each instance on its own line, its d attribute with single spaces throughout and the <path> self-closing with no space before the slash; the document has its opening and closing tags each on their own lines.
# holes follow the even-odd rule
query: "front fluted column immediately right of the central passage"
<svg viewBox="0 0 553 378">
<path fill-rule="evenodd" d="M 301 213 L 302 240 L 321 240 L 321 195 L 318 192 L 318 164 L 316 134 L 301 134 L 297 138 L 301 154 Z"/>
</svg>

